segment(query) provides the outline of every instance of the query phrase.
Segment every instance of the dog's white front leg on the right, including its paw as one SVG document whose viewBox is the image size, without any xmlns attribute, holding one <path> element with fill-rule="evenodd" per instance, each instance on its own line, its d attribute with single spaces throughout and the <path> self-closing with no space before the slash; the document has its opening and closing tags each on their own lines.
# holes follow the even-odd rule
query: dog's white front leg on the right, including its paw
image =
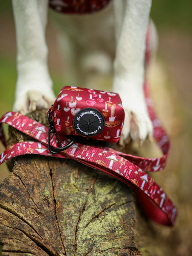
<svg viewBox="0 0 192 256">
<path fill-rule="evenodd" d="M 152 137 L 144 99 L 144 53 L 151 0 L 114 0 L 116 58 L 113 91 L 120 94 L 125 122 L 120 143 L 129 136 L 142 143 Z"/>
</svg>

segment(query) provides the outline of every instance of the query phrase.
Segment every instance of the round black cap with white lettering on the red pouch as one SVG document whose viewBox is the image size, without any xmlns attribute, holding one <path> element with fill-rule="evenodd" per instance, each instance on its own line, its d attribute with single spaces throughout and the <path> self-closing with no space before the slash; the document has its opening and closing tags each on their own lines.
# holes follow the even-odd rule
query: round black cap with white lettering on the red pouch
<svg viewBox="0 0 192 256">
<path fill-rule="evenodd" d="M 95 108 L 83 108 L 73 119 L 75 131 L 82 136 L 96 136 L 105 125 L 103 114 Z"/>
</svg>

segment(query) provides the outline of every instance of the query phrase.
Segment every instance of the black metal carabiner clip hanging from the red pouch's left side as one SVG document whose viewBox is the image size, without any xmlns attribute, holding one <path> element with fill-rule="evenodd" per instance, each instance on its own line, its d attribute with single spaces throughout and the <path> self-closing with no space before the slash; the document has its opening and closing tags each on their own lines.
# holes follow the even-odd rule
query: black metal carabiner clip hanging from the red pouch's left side
<svg viewBox="0 0 192 256">
<path fill-rule="evenodd" d="M 48 116 L 48 122 L 49 122 L 49 129 L 48 129 L 48 150 L 49 150 L 52 154 L 57 154 L 57 153 L 59 153 L 60 151 L 64 151 L 64 150 L 68 149 L 69 147 L 71 147 L 71 145 L 73 145 L 73 143 L 74 143 L 74 140 L 71 140 L 70 143 L 68 143 L 67 145 L 65 145 L 65 146 L 62 147 L 61 142 L 60 142 L 60 140 L 59 140 L 59 137 L 58 137 L 58 135 L 56 134 L 56 131 L 55 131 L 55 128 L 54 128 L 53 119 L 52 119 L 52 117 L 50 116 L 49 110 L 48 110 L 48 112 L 47 112 L 47 116 Z M 51 138 L 51 134 L 52 134 L 52 133 L 55 134 L 56 140 L 57 140 L 58 143 L 59 143 L 59 148 L 51 147 L 50 138 Z"/>
</svg>

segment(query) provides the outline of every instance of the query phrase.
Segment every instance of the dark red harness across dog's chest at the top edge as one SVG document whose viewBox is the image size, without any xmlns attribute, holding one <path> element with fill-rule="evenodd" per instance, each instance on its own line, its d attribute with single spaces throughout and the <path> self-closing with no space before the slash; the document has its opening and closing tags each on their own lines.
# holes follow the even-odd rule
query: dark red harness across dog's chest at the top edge
<svg viewBox="0 0 192 256">
<path fill-rule="evenodd" d="M 103 9 L 110 0 L 49 0 L 49 6 L 57 12 L 88 14 Z"/>
</svg>

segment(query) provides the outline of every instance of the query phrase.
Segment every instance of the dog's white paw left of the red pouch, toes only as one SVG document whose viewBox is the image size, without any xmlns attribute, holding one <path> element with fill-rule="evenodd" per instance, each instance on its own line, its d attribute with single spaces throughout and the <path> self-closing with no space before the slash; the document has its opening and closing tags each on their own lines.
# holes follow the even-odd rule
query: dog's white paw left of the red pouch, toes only
<svg viewBox="0 0 192 256">
<path fill-rule="evenodd" d="M 56 97 L 51 90 L 43 93 L 38 90 L 28 90 L 16 97 L 13 110 L 22 114 L 35 111 L 38 108 L 48 109 L 54 103 Z"/>
</svg>

